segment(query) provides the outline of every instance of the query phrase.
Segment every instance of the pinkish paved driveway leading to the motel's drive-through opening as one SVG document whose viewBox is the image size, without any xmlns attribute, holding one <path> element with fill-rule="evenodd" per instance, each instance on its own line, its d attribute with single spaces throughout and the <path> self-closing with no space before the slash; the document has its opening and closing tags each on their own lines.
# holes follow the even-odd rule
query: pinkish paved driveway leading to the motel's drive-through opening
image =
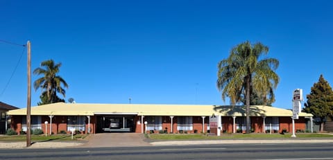
<svg viewBox="0 0 333 160">
<path fill-rule="evenodd" d="M 133 147 L 133 146 L 150 146 L 151 144 L 144 141 L 144 134 L 137 133 L 100 133 L 90 134 L 89 140 L 83 148 L 112 148 L 112 147 Z"/>
</svg>

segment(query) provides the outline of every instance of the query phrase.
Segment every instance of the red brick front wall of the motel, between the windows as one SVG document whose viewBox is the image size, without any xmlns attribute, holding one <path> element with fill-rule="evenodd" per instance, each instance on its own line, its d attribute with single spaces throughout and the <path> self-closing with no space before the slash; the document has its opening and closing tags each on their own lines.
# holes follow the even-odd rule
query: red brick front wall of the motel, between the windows
<svg viewBox="0 0 333 160">
<path fill-rule="evenodd" d="M 22 117 L 23 116 L 12 116 L 11 117 L 11 124 L 10 127 L 14 129 L 18 134 L 21 131 L 22 128 Z M 178 116 L 173 117 L 173 132 L 178 132 L 177 130 L 177 118 Z M 203 119 L 201 116 L 193 116 L 193 130 L 188 131 L 188 133 L 194 133 L 194 130 L 198 130 L 198 133 L 200 133 L 203 130 Z M 42 116 L 42 130 L 45 133 L 45 125 L 44 122 L 48 121 L 48 127 L 47 127 L 47 133 L 49 134 L 49 125 L 50 125 L 50 118 L 49 116 Z M 135 123 L 135 130 L 136 133 L 141 133 L 141 125 L 144 125 L 143 123 L 137 124 L 137 121 L 141 121 L 141 116 L 135 116 L 134 123 Z M 145 118 L 144 118 L 145 121 Z M 205 117 L 205 132 L 207 132 L 207 125 L 209 121 L 209 116 Z M 90 133 L 96 132 L 96 116 L 90 116 L 90 126 L 88 126 L 88 119 L 86 118 L 86 130 L 85 133 L 87 133 L 88 127 L 91 127 Z M 263 132 L 263 119 L 262 117 L 251 117 L 252 127 L 255 129 L 255 132 Z M 280 117 L 280 130 L 279 132 L 282 132 L 283 129 L 287 129 L 287 132 L 292 132 L 292 122 L 291 117 Z M 300 117 L 298 120 L 295 121 L 295 130 L 306 130 L 306 120 L 304 117 Z M 225 130 L 227 133 L 232 133 L 232 123 L 233 119 L 231 116 L 223 116 L 222 117 L 222 132 Z M 145 126 L 144 126 L 145 127 Z M 162 116 L 162 130 L 165 130 L 167 127 L 167 132 L 171 132 L 171 118 L 170 116 Z M 67 133 L 70 133 L 67 131 L 67 116 L 53 116 L 52 119 L 52 132 L 54 134 L 58 134 L 60 131 L 64 130 Z M 158 131 L 157 131 L 158 132 Z"/>
</svg>

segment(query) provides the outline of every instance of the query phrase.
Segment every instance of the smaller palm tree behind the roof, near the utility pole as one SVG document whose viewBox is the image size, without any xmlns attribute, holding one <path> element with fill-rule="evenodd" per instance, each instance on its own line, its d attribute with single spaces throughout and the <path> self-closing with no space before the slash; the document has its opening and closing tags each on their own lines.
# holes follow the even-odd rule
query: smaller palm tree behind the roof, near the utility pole
<svg viewBox="0 0 333 160">
<path fill-rule="evenodd" d="M 44 75 L 38 78 L 33 83 L 35 90 L 41 88 L 42 92 L 46 92 L 46 97 L 49 99 L 49 103 L 57 103 L 60 98 L 58 98 L 57 93 L 62 94 L 65 97 L 65 89 L 68 88 L 67 82 L 65 82 L 62 77 L 57 75 L 61 63 L 55 64 L 53 60 L 46 60 L 41 63 L 41 67 L 38 67 L 33 71 L 35 75 Z"/>
</svg>

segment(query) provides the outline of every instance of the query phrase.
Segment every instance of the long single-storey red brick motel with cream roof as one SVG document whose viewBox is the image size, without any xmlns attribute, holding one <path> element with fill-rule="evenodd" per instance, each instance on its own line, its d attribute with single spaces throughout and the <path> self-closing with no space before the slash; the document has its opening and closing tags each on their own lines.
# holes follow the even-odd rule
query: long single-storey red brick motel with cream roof
<svg viewBox="0 0 333 160">
<path fill-rule="evenodd" d="M 82 134 L 212 133 L 210 119 L 214 116 L 219 122 L 215 133 L 236 133 L 246 131 L 245 113 L 245 106 L 53 103 L 31 107 L 31 130 L 41 129 L 48 134 L 74 130 Z M 26 132 L 26 108 L 10 110 L 7 114 L 11 120 L 8 125 L 13 130 L 18 134 Z M 251 106 L 251 131 L 292 132 L 292 116 L 289 109 Z M 298 114 L 295 130 L 311 130 L 312 116 Z"/>
</svg>

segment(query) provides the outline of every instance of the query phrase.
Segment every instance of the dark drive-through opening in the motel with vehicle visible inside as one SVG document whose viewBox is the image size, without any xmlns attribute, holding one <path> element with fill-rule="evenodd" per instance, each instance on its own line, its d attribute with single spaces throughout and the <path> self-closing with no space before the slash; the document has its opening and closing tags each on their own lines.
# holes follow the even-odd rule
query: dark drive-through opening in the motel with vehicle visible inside
<svg viewBox="0 0 333 160">
<path fill-rule="evenodd" d="M 97 132 L 135 132 L 135 116 L 97 116 Z"/>
</svg>

